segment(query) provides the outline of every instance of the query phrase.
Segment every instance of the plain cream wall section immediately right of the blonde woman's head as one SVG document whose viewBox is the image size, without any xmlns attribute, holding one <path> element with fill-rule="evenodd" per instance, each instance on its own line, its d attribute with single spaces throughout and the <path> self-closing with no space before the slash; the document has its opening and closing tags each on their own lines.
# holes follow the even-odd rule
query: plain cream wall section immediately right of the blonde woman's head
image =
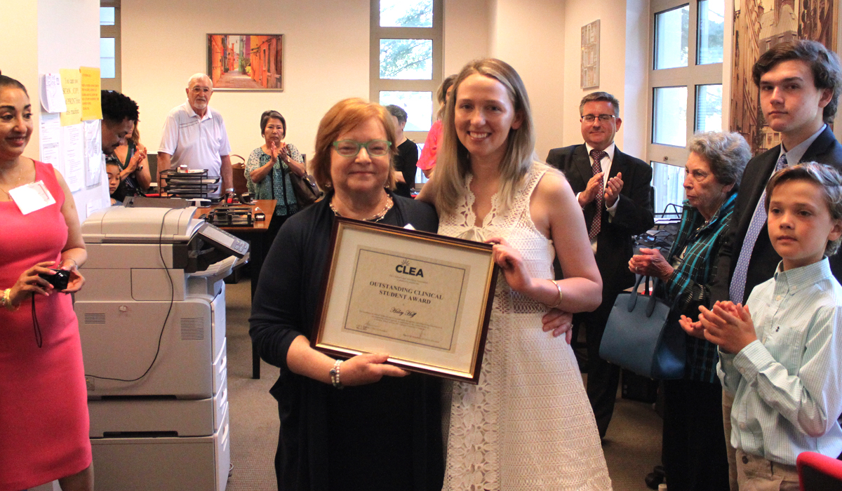
<svg viewBox="0 0 842 491">
<path fill-rule="evenodd" d="M 569 52 L 564 49 L 565 3 L 557 0 L 492 0 L 492 3 L 490 55 L 509 63 L 523 79 L 536 125 L 536 152 L 544 159 L 551 148 L 561 147 L 563 129 L 569 126 L 569 119 L 563 117 L 566 96 L 562 91 L 565 80 L 571 77 L 566 72 Z"/>
</svg>

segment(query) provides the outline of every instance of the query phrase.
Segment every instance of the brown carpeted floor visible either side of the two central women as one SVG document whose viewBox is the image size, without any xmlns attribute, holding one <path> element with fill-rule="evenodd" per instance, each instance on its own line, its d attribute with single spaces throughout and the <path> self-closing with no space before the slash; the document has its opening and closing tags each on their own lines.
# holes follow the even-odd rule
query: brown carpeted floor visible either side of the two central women
<svg viewBox="0 0 842 491">
<path fill-rule="evenodd" d="M 226 287 L 233 464 L 227 491 L 276 491 L 274 450 L 278 443 L 278 414 L 269 388 L 277 377 L 277 368 L 261 361 L 261 379 L 251 378 L 248 276 Z M 618 398 L 603 448 L 615 491 L 647 490 L 643 478 L 660 463 L 661 456 L 661 419 L 652 404 Z"/>
</svg>

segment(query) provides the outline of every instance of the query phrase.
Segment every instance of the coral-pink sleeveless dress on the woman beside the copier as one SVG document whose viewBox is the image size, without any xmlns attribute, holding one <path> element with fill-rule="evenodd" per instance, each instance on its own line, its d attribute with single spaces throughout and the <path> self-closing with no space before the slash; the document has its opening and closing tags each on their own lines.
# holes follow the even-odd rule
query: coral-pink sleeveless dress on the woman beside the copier
<svg viewBox="0 0 842 491">
<path fill-rule="evenodd" d="M 67 243 L 64 192 L 48 163 L 35 162 L 56 203 L 22 215 L 0 201 L 0 290 L 42 261 L 58 261 Z M 35 338 L 32 302 L 0 308 L 0 491 L 20 491 L 82 471 L 91 463 L 88 401 L 79 326 L 71 296 L 35 296 L 43 338 Z"/>
</svg>

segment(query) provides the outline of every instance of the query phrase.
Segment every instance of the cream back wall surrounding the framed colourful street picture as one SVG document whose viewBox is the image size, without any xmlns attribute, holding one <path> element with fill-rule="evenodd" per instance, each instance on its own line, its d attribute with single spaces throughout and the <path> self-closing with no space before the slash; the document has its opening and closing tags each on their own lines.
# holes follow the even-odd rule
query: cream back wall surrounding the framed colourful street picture
<svg viewBox="0 0 842 491">
<path fill-rule="evenodd" d="M 215 92 L 232 152 L 248 158 L 263 144 L 260 115 L 285 116 L 286 141 L 312 154 L 322 115 L 339 99 L 369 91 L 368 0 L 123 0 L 123 93 L 141 107 L 141 141 L 161 142 L 170 109 L 184 103 L 187 79 L 205 72 L 207 34 L 283 34 L 283 92 Z"/>
</svg>

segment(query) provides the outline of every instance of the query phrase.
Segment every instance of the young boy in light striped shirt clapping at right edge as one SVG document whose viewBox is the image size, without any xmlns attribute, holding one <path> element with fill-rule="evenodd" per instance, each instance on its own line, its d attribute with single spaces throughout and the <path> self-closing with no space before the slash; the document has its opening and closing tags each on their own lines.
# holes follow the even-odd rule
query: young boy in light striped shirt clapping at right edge
<svg viewBox="0 0 842 491">
<path fill-rule="evenodd" d="M 828 256 L 842 237 L 842 175 L 806 163 L 775 173 L 766 186 L 769 236 L 781 255 L 775 276 L 745 307 L 700 307 L 719 346 L 717 372 L 734 393 L 731 443 L 740 489 L 797 491 L 796 457 L 842 452 L 842 286 Z"/>
</svg>

